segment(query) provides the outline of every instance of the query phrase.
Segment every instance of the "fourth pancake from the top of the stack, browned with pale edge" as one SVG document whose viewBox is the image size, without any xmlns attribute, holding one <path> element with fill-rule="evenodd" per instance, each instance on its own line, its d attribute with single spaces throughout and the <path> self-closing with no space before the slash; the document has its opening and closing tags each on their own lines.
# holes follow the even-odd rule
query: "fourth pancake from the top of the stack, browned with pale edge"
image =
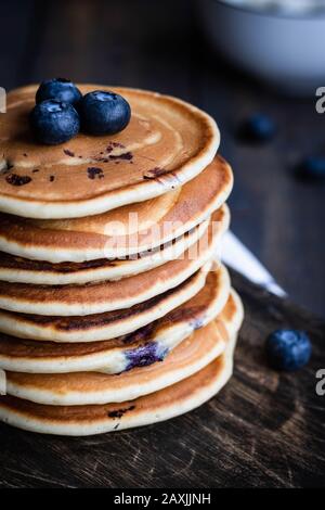
<svg viewBox="0 0 325 510">
<path fill-rule="evenodd" d="M 29 285 L 0 281 L 0 308 L 46 316 L 88 316 L 130 308 L 173 289 L 210 260 L 218 244 L 212 228 L 176 260 L 133 277 L 84 285 Z"/>
</svg>

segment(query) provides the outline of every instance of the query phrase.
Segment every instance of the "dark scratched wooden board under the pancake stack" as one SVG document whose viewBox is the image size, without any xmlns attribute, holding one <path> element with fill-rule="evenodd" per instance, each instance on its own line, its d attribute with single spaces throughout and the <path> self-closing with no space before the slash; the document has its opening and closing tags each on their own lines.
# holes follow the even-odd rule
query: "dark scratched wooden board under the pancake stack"
<svg viewBox="0 0 325 510">
<path fill-rule="evenodd" d="M 233 275 L 246 308 L 235 373 L 208 404 L 145 429 L 88 438 L 0 425 L 2 487 L 300 487 L 325 485 L 325 323 Z M 278 374 L 266 334 L 290 326 L 312 336 L 308 368 Z"/>
</svg>

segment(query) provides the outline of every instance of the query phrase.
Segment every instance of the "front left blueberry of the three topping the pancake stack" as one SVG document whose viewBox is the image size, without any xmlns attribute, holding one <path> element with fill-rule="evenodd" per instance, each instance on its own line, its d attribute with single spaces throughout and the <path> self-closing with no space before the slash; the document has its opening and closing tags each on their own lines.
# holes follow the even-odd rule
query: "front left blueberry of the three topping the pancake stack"
<svg viewBox="0 0 325 510">
<path fill-rule="evenodd" d="M 80 128 L 79 115 L 74 106 L 52 99 L 31 110 L 29 124 L 36 139 L 47 145 L 70 140 Z"/>
</svg>

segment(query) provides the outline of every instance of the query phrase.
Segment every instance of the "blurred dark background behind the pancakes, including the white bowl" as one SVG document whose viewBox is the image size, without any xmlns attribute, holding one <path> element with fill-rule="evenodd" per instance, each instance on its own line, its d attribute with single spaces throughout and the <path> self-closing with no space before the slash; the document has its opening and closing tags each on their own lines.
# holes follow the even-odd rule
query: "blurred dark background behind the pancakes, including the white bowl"
<svg viewBox="0 0 325 510">
<path fill-rule="evenodd" d="M 235 174 L 233 231 L 292 301 L 325 316 L 325 181 L 297 177 L 310 157 L 324 170 L 323 2 L 229 2 L 0 1 L 0 86 L 66 77 L 157 90 L 209 112 Z M 263 143 L 238 136 L 256 114 L 271 123 Z"/>
</svg>

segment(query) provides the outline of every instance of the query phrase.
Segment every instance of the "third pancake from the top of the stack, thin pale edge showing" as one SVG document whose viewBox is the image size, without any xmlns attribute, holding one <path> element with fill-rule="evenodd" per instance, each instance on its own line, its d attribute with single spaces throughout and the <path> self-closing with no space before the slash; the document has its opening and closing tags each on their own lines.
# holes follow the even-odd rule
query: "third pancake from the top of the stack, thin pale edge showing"
<svg viewBox="0 0 325 510">
<path fill-rule="evenodd" d="M 230 224 L 227 206 L 222 205 L 220 209 L 213 213 L 211 219 L 220 221 L 220 234 L 222 234 Z M 87 263 L 52 264 L 44 260 L 28 260 L 27 258 L 0 252 L 0 280 L 37 285 L 70 285 L 93 281 L 119 280 L 120 278 L 148 271 L 168 260 L 178 258 L 205 234 L 208 225 L 209 220 L 207 219 L 165 246 L 158 246 L 151 252 L 122 259 L 103 258 Z"/>
</svg>

